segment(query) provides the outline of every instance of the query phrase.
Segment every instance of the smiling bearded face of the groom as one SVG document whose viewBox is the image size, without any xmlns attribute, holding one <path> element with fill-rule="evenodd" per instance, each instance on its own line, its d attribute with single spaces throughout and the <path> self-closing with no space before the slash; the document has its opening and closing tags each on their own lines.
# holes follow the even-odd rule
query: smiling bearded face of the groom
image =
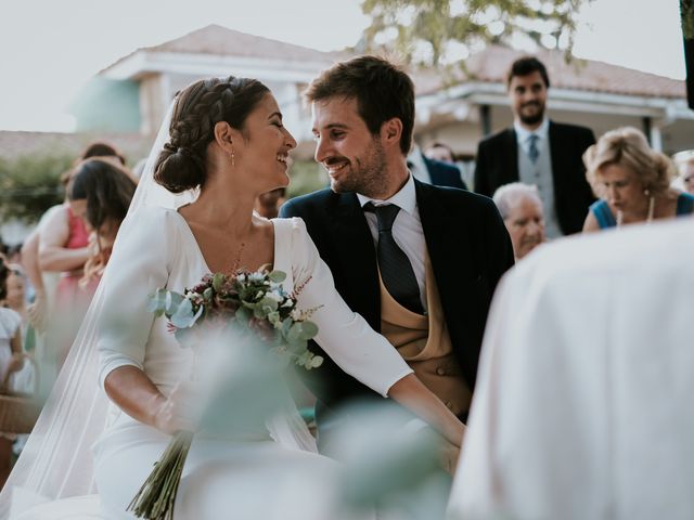
<svg viewBox="0 0 694 520">
<path fill-rule="evenodd" d="M 334 192 L 377 198 L 383 191 L 386 156 L 380 135 L 369 131 L 356 99 L 330 98 L 312 104 L 316 160 L 330 176 Z"/>
</svg>

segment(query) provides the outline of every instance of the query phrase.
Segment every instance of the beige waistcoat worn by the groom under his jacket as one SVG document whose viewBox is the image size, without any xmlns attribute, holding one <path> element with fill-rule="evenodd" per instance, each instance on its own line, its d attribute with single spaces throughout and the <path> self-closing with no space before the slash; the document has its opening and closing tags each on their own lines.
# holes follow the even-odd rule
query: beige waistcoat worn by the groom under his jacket
<svg viewBox="0 0 694 520">
<path fill-rule="evenodd" d="M 381 333 L 420 380 L 455 415 L 470 408 L 472 392 L 453 355 L 451 338 L 441 309 L 438 287 L 428 255 L 426 272 L 427 315 L 416 314 L 400 306 L 386 290 L 381 275 Z"/>
</svg>

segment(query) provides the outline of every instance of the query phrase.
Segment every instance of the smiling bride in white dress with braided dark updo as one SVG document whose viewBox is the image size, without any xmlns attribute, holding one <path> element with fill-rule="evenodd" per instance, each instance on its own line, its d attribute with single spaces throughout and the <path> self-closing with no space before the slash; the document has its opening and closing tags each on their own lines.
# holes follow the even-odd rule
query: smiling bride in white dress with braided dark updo
<svg viewBox="0 0 694 520">
<path fill-rule="evenodd" d="M 171 433 L 190 428 L 191 410 L 180 381 L 190 375 L 193 354 L 167 332 L 166 318 L 145 310 L 147 295 L 158 287 L 182 292 L 204 274 L 229 272 L 235 263 L 250 270 L 271 264 L 286 272 L 287 291 L 303 287 L 298 308 L 319 308 L 311 320 L 324 351 L 345 372 L 411 410 L 460 446 L 464 426 L 416 379 L 396 350 L 347 308 L 303 221 L 268 221 L 253 213 L 258 195 L 288 183 L 286 161 L 295 146 L 277 101 L 257 80 L 201 80 L 177 96 L 168 142 L 154 162 L 153 176 L 174 194 L 193 188 L 200 194 L 177 209 L 152 204 L 131 208 L 100 287 L 101 316 L 92 313 L 88 318 L 97 323 L 99 382 L 115 404 L 93 447 L 93 474 L 105 518 L 132 518 L 126 508 Z M 144 179 L 138 191 L 146 191 L 147 183 Z M 114 332 L 104 325 L 107 316 L 118 316 L 120 323 L 125 317 L 128 325 Z M 88 323 L 83 329 L 89 327 Z M 89 330 L 82 332 L 82 342 L 85 334 Z M 51 437 L 51 428 L 41 432 L 43 441 Z M 80 430 L 82 438 L 89 430 Z M 29 450 L 29 456 L 36 451 Z M 37 468 L 17 466 L 21 474 L 11 477 L 10 484 L 39 491 L 22 478 Z M 283 424 L 268 422 L 265 439 L 196 438 L 175 517 L 216 519 L 229 511 L 236 519 L 343 518 L 335 493 L 337 469 L 336 463 L 316 453 L 294 408 Z M 53 490 L 50 497 L 66 496 L 62 490 Z M 7 507 L 7 500 L 0 497 L 0 507 Z"/>
</svg>

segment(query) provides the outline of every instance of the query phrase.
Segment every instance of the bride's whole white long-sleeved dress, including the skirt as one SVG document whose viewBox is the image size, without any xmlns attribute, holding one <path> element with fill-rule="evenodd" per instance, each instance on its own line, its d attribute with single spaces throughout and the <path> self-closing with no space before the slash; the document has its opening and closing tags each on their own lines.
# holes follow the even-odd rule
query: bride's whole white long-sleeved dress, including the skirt
<svg viewBox="0 0 694 520">
<path fill-rule="evenodd" d="M 137 214 L 139 213 L 139 214 Z M 133 365 L 164 395 L 191 372 L 193 353 L 167 332 L 166 318 L 146 311 L 158 287 L 182 292 L 210 272 L 185 220 L 172 209 L 147 207 L 132 216 L 111 259 L 105 282 L 105 317 L 125 327 L 99 334 L 99 378 Z M 299 309 L 320 307 L 311 320 L 317 341 L 347 373 L 381 394 L 411 372 L 393 347 L 351 312 L 336 292 L 300 219 L 277 219 L 274 269 L 284 271 L 286 290 L 303 285 Z M 170 437 L 114 406 L 114 420 L 95 443 L 94 473 L 106 518 L 133 518 L 126 508 L 151 472 Z M 175 515 L 177 520 L 335 519 L 339 471 L 336 463 L 273 440 L 232 442 L 196 439 L 189 454 Z"/>
</svg>

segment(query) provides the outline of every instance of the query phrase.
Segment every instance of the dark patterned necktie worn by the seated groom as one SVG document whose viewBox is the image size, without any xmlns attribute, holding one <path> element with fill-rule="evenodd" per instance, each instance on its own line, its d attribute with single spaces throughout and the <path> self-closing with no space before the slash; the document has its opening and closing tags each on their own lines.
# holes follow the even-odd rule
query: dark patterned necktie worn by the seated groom
<svg viewBox="0 0 694 520">
<path fill-rule="evenodd" d="M 364 210 L 375 212 L 378 219 L 377 253 L 383 284 L 398 303 L 422 314 L 424 310 L 414 270 L 408 256 L 393 238 L 393 222 L 400 208 L 394 204 L 374 206 L 368 203 Z"/>
</svg>

